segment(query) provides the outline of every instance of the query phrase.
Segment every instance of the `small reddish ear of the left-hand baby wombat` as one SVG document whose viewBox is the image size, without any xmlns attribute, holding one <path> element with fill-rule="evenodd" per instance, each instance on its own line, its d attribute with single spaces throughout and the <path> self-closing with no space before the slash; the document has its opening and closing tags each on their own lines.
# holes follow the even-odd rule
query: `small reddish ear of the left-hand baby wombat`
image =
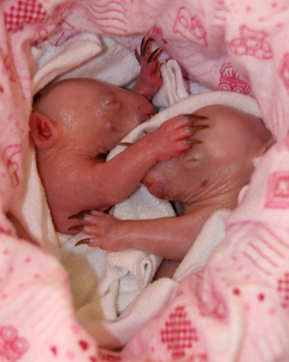
<svg viewBox="0 0 289 362">
<path fill-rule="evenodd" d="M 30 115 L 30 134 L 38 148 L 51 148 L 59 139 L 59 128 L 48 116 L 40 112 Z"/>
</svg>

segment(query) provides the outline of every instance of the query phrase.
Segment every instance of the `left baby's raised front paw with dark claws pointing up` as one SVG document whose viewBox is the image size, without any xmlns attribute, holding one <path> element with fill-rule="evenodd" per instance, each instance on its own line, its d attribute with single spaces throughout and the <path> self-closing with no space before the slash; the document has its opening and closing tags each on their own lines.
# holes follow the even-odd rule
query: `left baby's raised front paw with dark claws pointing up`
<svg viewBox="0 0 289 362">
<path fill-rule="evenodd" d="M 151 101 L 155 93 L 160 89 L 163 84 L 161 67 L 163 63 L 158 64 L 157 58 L 161 52 L 157 48 L 151 52 L 150 47 L 151 38 L 144 37 L 141 44 L 141 53 L 135 50 L 136 58 L 138 59 L 141 70 L 132 91 L 141 94 L 148 101 Z"/>
</svg>

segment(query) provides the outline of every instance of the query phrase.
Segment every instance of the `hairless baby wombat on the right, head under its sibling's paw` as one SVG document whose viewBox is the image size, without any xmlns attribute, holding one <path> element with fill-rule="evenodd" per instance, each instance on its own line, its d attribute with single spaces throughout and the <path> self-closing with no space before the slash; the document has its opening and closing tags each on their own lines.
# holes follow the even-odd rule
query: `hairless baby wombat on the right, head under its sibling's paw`
<svg viewBox="0 0 289 362">
<path fill-rule="evenodd" d="M 208 118 L 201 123 L 209 128 L 198 131 L 203 143 L 158 162 L 142 179 L 152 195 L 181 202 L 183 215 L 118 220 L 100 211 L 83 213 L 82 232 L 90 235 L 84 240 L 87 245 L 114 251 L 134 247 L 180 261 L 213 211 L 237 206 L 253 161 L 265 153 L 272 136 L 259 118 L 233 107 L 210 105 L 194 114 Z"/>
</svg>

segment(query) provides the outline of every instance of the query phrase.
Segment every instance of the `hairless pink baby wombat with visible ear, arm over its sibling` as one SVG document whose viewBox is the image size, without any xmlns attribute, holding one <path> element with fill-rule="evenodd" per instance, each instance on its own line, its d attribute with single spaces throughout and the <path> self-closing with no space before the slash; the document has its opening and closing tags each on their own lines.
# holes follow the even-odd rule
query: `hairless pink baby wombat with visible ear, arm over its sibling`
<svg viewBox="0 0 289 362">
<path fill-rule="evenodd" d="M 105 156 L 137 125 L 150 119 L 149 100 L 162 84 L 149 39 L 136 52 L 140 77 L 131 90 L 94 79 L 67 79 L 50 85 L 30 116 L 38 171 L 54 226 L 69 232 L 72 214 L 106 210 L 125 199 L 148 170 L 191 147 L 196 117 L 180 115 L 105 162 Z M 74 221 L 75 224 L 75 221 Z M 74 232 L 75 233 L 75 232 Z"/>
</svg>

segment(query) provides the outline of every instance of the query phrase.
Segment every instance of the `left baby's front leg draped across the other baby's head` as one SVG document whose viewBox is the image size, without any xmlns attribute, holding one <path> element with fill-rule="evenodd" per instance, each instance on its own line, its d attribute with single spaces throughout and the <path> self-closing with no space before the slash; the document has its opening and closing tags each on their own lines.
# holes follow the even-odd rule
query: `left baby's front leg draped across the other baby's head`
<svg viewBox="0 0 289 362">
<path fill-rule="evenodd" d="M 194 135 L 199 129 L 209 127 L 200 124 L 205 120 L 206 117 L 193 114 L 175 116 L 107 162 L 82 162 L 84 181 L 92 182 L 86 182 L 81 203 L 74 212 L 84 209 L 103 211 L 119 204 L 157 162 L 177 157 L 194 144 L 202 143 Z"/>
</svg>

